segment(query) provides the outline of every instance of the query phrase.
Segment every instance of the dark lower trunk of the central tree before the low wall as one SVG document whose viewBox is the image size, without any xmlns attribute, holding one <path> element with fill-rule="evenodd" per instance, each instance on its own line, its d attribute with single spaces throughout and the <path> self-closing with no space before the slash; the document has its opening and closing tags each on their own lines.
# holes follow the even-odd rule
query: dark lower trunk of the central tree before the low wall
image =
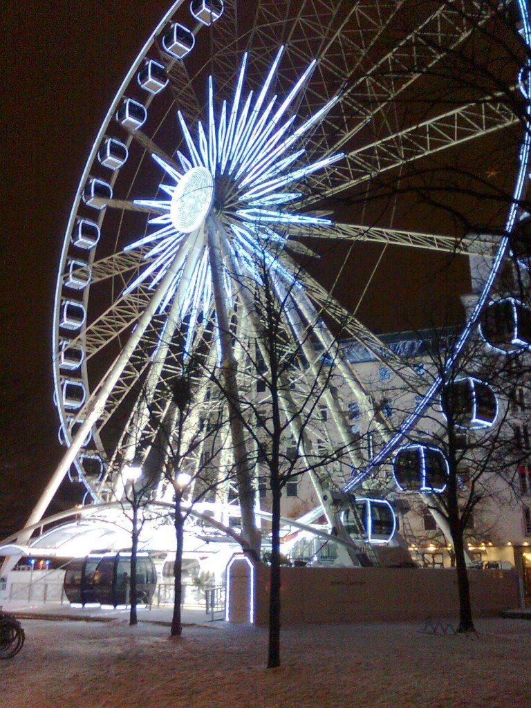
<svg viewBox="0 0 531 708">
<path fill-rule="evenodd" d="M 272 479 L 273 520 L 271 523 L 268 668 L 280 666 L 280 492 L 278 479 Z"/>
</svg>

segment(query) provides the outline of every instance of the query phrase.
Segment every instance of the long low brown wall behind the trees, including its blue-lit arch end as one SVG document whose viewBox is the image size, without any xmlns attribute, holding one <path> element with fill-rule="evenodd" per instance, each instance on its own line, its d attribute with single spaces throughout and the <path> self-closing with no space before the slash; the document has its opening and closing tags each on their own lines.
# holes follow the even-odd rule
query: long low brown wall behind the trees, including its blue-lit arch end
<svg viewBox="0 0 531 708">
<path fill-rule="evenodd" d="M 233 622 L 248 622 L 254 577 L 253 618 L 256 624 L 268 621 L 269 568 L 236 563 L 229 602 Z M 282 624 L 338 624 L 457 618 L 457 577 L 455 569 L 386 568 L 282 568 Z M 469 581 L 474 617 L 497 615 L 508 607 L 518 607 L 518 577 L 514 571 L 470 570 Z M 237 608 L 237 611 L 236 611 Z"/>
</svg>

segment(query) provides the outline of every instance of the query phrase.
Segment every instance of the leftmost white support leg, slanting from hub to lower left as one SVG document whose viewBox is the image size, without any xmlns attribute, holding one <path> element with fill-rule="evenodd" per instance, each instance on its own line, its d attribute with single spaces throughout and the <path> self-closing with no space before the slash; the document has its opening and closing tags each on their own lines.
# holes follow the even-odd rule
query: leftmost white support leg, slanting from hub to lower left
<svg viewBox="0 0 531 708">
<path fill-rule="evenodd" d="M 70 468 L 70 465 L 74 462 L 79 450 L 81 450 L 81 446 L 83 445 L 86 435 L 89 433 L 89 430 L 92 428 L 93 424 L 96 423 L 99 416 L 101 416 L 108 396 L 115 387 L 116 382 L 118 382 L 122 371 L 125 369 L 132 353 L 137 347 L 139 341 L 142 339 L 142 336 L 149 326 L 149 323 L 152 321 L 153 316 L 156 314 L 156 310 L 161 304 L 164 295 L 166 295 L 166 291 L 170 287 L 173 278 L 175 278 L 176 273 L 181 267 L 186 253 L 188 253 L 188 248 L 183 246 L 183 249 L 176 254 L 173 262 L 168 268 L 168 272 L 164 275 L 159 287 L 157 287 L 154 292 L 151 302 L 149 302 L 149 305 L 139 317 L 135 331 L 132 332 L 129 341 L 127 341 L 127 344 L 122 349 L 122 352 L 115 360 L 107 375 L 104 377 L 98 392 L 93 396 L 93 398 L 89 399 L 86 404 L 84 411 L 82 411 L 85 416 L 84 421 L 81 423 L 81 426 L 79 426 L 79 430 L 77 430 L 74 438 L 72 438 L 72 443 L 67 452 L 64 454 L 61 462 L 59 462 L 57 469 L 52 475 L 52 479 L 50 479 L 48 484 L 45 486 L 38 503 L 30 514 L 28 521 L 25 523 L 24 529 L 38 523 L 42 519 L 42 515 L 45 513 L 47 506 L 52 501 L 57 489 L 59 489 L 59 484 L 61 484 L 64 476 Z M 27 539 L 29 534 L 28 532 L 24 533 L 23 530 L 21 532 L 21 536 L 19 536 L 19 540 L 24 537 Z"/>
</svg>

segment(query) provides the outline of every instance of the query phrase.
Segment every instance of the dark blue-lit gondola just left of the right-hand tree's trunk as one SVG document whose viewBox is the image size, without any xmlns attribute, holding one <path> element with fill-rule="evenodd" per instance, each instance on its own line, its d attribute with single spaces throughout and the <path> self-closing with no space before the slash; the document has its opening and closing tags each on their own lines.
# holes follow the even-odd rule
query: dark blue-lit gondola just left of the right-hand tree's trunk
<svg viewBox="0 0 531 708">
<path fill-rule="evenodd" d="M 448 462 L 438 447 L 411 443 L 396 450 L 393 475 L 401 491 L 440 493 L 446 489 Z"/>
</svg>

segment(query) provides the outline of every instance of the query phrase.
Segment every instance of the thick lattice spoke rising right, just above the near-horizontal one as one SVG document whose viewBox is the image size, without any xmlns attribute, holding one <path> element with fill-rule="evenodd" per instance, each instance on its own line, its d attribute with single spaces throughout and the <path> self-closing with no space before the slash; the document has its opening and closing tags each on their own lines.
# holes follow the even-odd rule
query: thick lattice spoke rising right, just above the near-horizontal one
<svg viewBox="0 0 531 708">
<path fill-rule="evenodd" d="M 325 175 L 309 176 L 312 195 L 302 198 L 304 205 L 337 195 L 349 188 L 377 178 L 396 167 L 412 164 L 470 140 L 484 137 L 520 122 L 520 118 L 500 96 L 469 103 L 444 115 L 426 120 L 387 138 L 353 150 L 336 164 L 333 181 Z"/>
</svg>

